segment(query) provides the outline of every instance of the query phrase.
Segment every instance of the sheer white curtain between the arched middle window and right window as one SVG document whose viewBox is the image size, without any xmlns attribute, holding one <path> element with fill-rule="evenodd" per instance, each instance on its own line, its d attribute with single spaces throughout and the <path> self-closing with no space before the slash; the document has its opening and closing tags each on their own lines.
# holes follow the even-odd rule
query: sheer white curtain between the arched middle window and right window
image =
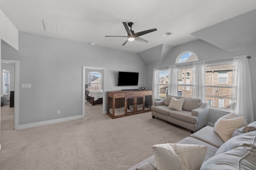
<svg viewBox="0 0 256 170">
<path fill-rule="evenodd" d="M 193 63 L 192 98 L 205 102 L 205 61 Z"/>
</svg>

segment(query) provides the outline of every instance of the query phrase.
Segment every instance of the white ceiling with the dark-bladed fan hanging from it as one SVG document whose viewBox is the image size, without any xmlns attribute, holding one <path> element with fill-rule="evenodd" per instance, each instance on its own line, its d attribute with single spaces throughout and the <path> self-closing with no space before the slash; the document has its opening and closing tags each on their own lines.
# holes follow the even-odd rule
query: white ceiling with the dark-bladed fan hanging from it
<svg viewBox="0 0 256 170">
<path fill-rule="evenodd" d="M 256 9 L 256 0 L 0 0 L 0 9 L 19 31 L 138 53 L 194 41 L 191 33 Z M 44 31 L 43 20 L 68 26 L 68 35 Z M 125 37 L 105 37 L 126 36 L 122 22 L 157 31 L 122 46 Z"/>
</svg>

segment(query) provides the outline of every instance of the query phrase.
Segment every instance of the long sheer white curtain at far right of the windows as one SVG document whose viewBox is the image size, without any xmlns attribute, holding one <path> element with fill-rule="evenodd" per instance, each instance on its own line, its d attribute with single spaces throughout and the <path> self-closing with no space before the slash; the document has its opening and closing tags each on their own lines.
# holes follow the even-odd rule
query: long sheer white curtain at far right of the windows
<svg viewBox="0 0 256 170">
<path fill-rule="evenodd" d="M 233 93 L 231 110 L 239 117 L 244 116 L 247 123 L 252 123 L 252 88 L 247 55 L 234 57 Z M 234 110 L 234 111 L 233 111 Z"/>
</svg>

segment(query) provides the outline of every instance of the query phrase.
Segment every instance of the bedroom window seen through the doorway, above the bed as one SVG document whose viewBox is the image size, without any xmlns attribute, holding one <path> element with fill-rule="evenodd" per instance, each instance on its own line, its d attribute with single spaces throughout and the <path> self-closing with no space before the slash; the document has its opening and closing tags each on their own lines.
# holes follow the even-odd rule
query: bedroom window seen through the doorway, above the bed
<svg viewBox="0 0 256 170">
<path fill-rule="evenodd" d="M 88 73 L 88 90 L 101 90 L 101 73 Z"/>
</svg>

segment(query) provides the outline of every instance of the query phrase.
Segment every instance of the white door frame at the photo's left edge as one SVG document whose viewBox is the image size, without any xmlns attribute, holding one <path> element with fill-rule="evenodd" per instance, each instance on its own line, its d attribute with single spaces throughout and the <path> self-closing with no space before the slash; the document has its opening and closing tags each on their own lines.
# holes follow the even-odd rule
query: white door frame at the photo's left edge
<svg viewBox="0 0 256 170">
<path fill-rule="evenodd" d="M 14 127 L 18 130 L 19 125 L 19 61 L 1 59 L 1 64 L 14 64 L 15 68 L 15 90 L 14 90 Z M 2 67 L 1 67 L 2 68 Z M 1 76 L 2 77 L 2 76 Z"/>
</svg>

